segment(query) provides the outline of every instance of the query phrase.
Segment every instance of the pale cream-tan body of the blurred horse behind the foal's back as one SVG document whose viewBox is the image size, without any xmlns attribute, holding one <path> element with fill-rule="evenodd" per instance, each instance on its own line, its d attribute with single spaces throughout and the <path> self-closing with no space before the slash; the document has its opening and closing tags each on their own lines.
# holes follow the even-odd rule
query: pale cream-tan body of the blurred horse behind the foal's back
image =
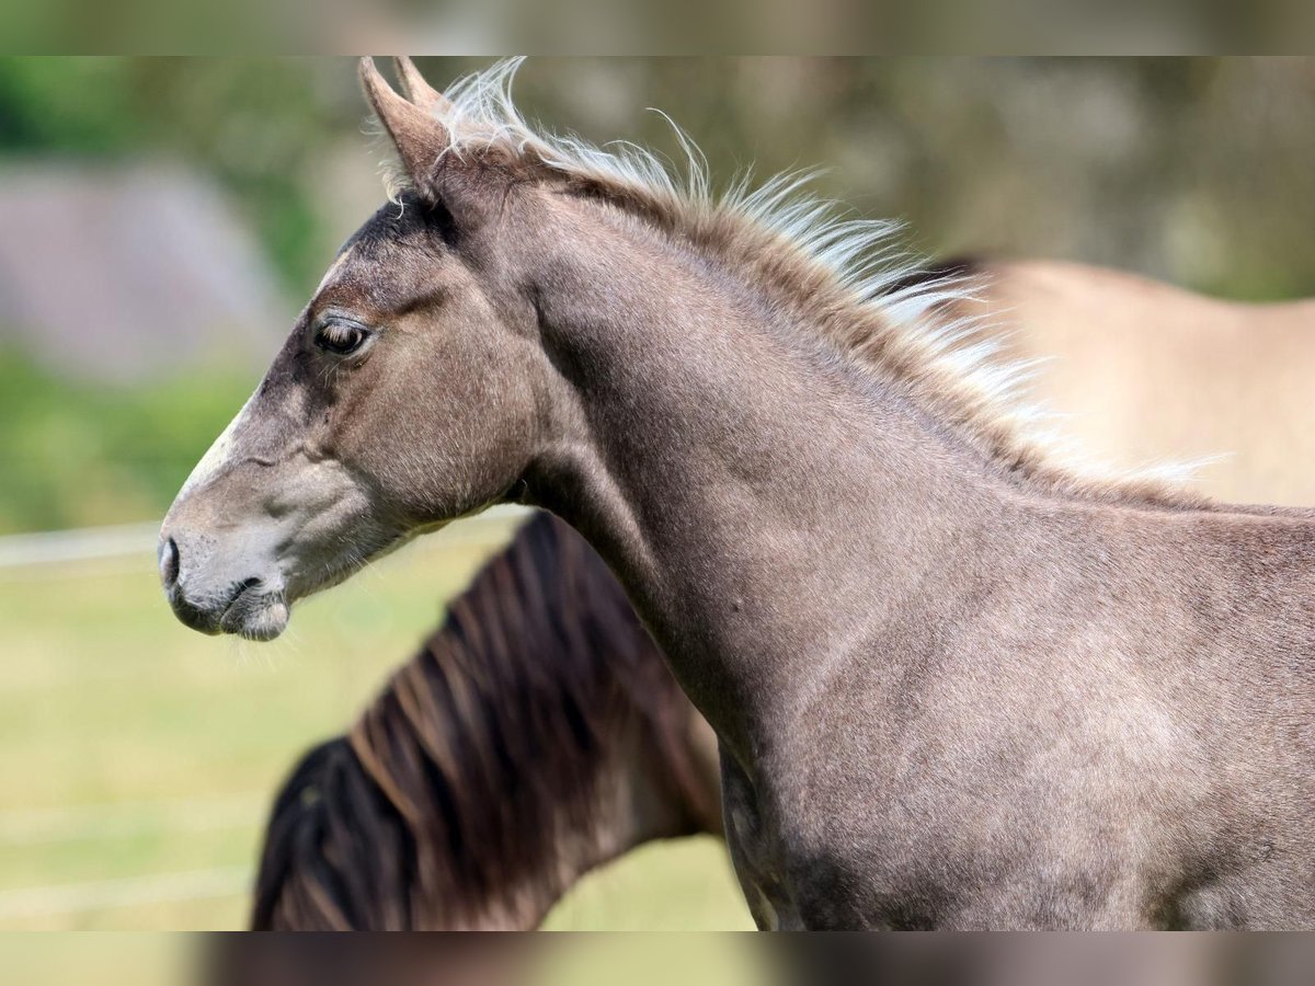
<svg viewBox="0 0 1315 986">
<path fill-rule="evenodd" d="M 977 316 L 1044 364 L 1036 396 L 1084 456 L 1116 468 L 1219 456 L 1193 477 L 1233 502 L 1315 505 L 1315 300 L 1222 301 L 1059 260 L 951 263 Z"/>
</svg>

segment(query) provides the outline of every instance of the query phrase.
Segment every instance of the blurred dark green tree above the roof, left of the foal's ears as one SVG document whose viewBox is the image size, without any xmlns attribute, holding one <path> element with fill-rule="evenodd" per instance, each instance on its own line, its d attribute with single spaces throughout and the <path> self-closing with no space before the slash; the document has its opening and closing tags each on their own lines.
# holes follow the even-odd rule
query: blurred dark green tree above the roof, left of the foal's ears
<svg viewBox="0 0 1315 986">
<path fill-rule="evenodd" d="M 326 68 L 277 58 L 0 59 L 0 154 L 168 155 L 206 171 L 300 294 L 323 263 L 306 163 L 354 122 L 323 99 Z"/>
</svg>

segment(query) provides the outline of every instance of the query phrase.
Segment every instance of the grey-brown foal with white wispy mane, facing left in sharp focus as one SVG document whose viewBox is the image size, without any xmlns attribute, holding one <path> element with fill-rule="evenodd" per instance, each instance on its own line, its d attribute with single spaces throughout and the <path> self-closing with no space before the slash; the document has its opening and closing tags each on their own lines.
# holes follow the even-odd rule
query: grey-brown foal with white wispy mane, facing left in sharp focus
<svg viewBox="0 0 1315 986">
<path fill-rule="evenodd" d="M 164 522 L 176 615 L 497 501 L 598 548 L 717 731 L 764 927 L 1315 926 L 1315 518 L 1056 465 L 938 292 L 789 183 L 546 137 L 371 62 L 410 188 Z"/>
</svg>

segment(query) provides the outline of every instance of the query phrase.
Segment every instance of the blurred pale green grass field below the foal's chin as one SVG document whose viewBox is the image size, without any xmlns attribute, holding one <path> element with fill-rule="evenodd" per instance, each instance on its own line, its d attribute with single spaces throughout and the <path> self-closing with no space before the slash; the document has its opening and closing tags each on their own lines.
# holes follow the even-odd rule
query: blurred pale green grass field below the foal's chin
<svg viewBox="0 0 1315 986">
<path fill-rule="evenodd" d="M 153 560 L 0 568 L 0 928 L 243 924 L 275 786 L 339 732 L 512 530 L 476 521 L 299 607 L 256 646 L 178 624 Z M 744 928 L 722 847 L 592 874 L 552 928 Z"/>
</svg>

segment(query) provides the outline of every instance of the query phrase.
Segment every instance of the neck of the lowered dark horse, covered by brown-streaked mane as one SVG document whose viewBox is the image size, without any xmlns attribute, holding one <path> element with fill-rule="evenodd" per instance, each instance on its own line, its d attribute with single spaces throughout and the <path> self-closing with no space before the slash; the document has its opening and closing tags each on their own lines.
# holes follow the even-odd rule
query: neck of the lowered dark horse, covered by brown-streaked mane
<svg viewBox="0 0 1315 986">
<path fill-rule="evenodd" d="M 414 833 L 417 927 L 533 928 L 590 869 L 694 831 L 679 692 L 588 552 L 531 522 L 352 734 Z"/>
</svg>

